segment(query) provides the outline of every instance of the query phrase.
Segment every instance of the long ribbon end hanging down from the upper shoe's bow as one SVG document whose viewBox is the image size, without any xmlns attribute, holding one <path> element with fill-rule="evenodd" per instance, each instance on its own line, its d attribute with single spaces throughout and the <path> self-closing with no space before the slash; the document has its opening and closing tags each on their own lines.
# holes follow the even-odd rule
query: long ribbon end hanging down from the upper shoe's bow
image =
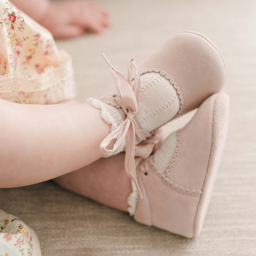
<svg viewBox="0 0 256 256">
<path fill-rule="evenodd" d="M 127 175 L 132 179 L 132 181 L 136 185 L 140 198 L 143 199 L 140 187 L 137 182 L 136 168 L 134 163 L 134 154 L 135 154 L 135 130 L 134 130 L 134 124 L 133 122 L 131 122 L 128 128 L 128 132 L 126 134 L 126 154 L 124 158 L 124 167 Z"/>
</svg>

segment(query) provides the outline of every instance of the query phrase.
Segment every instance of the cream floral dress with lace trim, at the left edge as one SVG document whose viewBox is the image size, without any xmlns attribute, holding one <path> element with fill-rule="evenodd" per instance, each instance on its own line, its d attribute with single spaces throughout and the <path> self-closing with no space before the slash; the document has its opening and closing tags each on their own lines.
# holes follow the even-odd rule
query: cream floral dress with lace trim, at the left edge
<svg viewBox="0 0 256 256">
<path fill-rule="evenodd" d="M 0 99 L 54 104 L 75 97 L 71 57 L 51 33 L 8 0 L 0 0 Z M 0 210 L 0 256 L 40 256 L 35 232 Z"/>
</svg>

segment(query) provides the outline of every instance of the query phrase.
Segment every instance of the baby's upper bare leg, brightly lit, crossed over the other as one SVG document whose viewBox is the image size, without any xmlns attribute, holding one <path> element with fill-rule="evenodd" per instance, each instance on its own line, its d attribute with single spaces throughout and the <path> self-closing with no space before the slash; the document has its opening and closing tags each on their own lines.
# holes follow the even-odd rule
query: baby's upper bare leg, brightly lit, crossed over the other
<svg viewBox="0 0 256 256">
<path fill-rule="evenodd" d="M 46 181 L 102 157 L 110 132 L 100 110 L 82 103 L 25 105 L 0 99 L 0 187 Z"/>
</svg>

